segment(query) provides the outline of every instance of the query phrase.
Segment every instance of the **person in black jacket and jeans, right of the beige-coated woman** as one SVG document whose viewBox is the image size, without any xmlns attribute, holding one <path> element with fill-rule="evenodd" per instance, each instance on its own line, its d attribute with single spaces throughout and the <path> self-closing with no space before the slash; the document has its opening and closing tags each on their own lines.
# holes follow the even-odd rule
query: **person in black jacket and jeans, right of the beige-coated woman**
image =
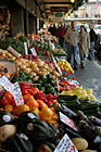
<svg viewBox="0 0 101 152">
<path fill-rule="evenodd" d="M 96 42 L 97 36 L 96 36 L 94 30 L 93 30 L 93 26 L 89 25 L 89 28 L 90 28 L 90 33 L 89 33 L 89 35 L 90 35 L 90 49 L 88 52 L 88 59 L 94 60 L 94 42 Z"/>
</svg>

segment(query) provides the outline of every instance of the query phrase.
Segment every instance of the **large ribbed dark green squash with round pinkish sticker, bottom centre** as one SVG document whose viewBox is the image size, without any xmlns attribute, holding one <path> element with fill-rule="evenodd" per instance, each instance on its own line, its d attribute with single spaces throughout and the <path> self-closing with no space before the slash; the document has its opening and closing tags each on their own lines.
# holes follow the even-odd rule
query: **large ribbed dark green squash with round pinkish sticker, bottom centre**
<svg viewBox="0 0 101 152">
<path fill-rule="evenodd" d="M 48 123 L 34 119 L 31 123 L 27 125 L 26 135 L 28 138 L 36 143 L 43 143 L 47 140 L 54 140 L 58 136 L 58 131 L 55 130 L 55 125 L 49 126 Z"/>
</svg>

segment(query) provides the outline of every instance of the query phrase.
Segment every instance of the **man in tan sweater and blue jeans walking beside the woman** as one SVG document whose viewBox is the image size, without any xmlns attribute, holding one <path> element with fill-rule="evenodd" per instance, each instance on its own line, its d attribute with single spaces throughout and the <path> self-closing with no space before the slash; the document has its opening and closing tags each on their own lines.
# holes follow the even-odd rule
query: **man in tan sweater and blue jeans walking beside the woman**
<svg viewBox="0 0 101 152">
<path fill-rule="evenodd" d="M 67 42 L 67 61 L 71 63 L 72 54 L 74 58 L 74 69 L 77 69 L 77 53 L 78 53 L 78 36 L 79 33 L 75 28 L 75 22 L 71 23 L 71 28 L 65 33 L 64 39 Z"/>
</svg>

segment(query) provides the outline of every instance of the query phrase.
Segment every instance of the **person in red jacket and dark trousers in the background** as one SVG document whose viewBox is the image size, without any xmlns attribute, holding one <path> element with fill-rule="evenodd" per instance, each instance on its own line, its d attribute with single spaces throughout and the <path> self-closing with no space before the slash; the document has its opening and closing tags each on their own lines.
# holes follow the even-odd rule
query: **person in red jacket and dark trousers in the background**
<svg viewBox="0 0 101 152">
<path fill-rule="evenodd" d="M 59 43 L 62 48 L 63 48 L 63 43 L 64 43 L 64 34 L 65 34 L 64 26 L 61 25 L 59 27 L 59 29 L 56 30 L 56 36 L 59 37 Z"/>
</svg>

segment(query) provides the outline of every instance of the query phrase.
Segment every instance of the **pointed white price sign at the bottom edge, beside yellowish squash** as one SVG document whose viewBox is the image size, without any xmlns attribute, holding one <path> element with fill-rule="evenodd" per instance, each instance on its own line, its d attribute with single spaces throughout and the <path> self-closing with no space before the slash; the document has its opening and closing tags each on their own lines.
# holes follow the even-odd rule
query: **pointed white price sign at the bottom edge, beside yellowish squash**
<svg viewBox="0 0 101 152">
<path fill-rule="evenodd" d="M 70 137 L 65 134 L 54 152 L 78 152 Z"/>
</svg>

